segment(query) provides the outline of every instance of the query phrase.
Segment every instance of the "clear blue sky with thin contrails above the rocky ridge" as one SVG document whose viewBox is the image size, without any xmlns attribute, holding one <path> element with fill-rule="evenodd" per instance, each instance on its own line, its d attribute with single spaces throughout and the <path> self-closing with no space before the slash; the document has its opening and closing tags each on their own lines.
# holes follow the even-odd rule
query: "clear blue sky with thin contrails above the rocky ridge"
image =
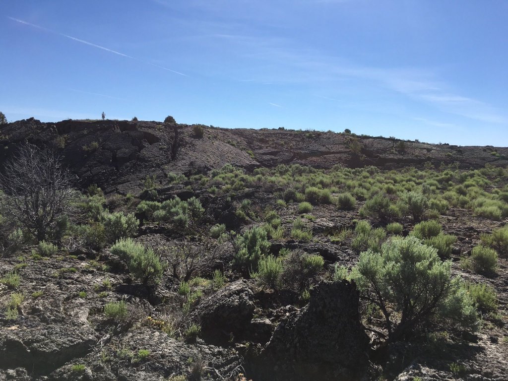
<svg viewBox="0 0 508 381">
<path fill-rule="evenodd" d="M 508 2 L 5 0 L 0 111 L 508 146 Z"/>
</svg>

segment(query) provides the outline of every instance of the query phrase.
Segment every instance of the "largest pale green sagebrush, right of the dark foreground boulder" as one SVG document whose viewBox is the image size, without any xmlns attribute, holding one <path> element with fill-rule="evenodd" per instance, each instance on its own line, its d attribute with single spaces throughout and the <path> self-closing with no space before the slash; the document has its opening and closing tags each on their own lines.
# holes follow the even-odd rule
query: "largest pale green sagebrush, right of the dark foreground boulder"
<svg viewBox="0 0 508 381">
<path fill-rule="evenodd" d="M 351 272 L 336 270 L 336 278 L 343 277 L 355 280 L 361 297 L 383 313 L 389 341 L 436 327 L 435 321 L 478 324 L 473 300 L 451 276 L 451 262 L 415 237 L 389 240 L 380 253 L 362 252 Z"/>
</svg>

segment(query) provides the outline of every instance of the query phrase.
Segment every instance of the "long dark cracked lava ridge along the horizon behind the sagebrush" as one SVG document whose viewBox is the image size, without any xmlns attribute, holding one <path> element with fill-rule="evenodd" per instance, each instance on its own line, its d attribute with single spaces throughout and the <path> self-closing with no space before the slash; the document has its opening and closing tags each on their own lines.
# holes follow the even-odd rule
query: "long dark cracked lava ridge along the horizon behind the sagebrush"
<svg viewBox="0 0 508 381">
<path fill-rule="evenodd" d="M 193 174 L 232 164 L 245 169 L 300 164 L 329 169 L 377 166 L 482 168 L 506 166 L 508 148 L 408 142 L 395 138 L 287 130 L 220 129 L 156 121 L 20 120 L 0 128 L 0 161 L 17 143 L 29 141 L 61 150 L 81 185 L 97 183 L 107 193 L 136 190 L 146 175 Z"/>
</svg>

